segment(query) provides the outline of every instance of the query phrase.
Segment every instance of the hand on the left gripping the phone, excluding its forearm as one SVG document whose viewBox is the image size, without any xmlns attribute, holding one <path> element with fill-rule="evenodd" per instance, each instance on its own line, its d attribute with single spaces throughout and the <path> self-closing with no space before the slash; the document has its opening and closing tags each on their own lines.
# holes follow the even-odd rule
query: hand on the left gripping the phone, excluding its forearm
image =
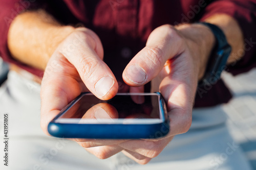
<svg viewBox="0 0 256 170">
<path fill-rule="evenodd" d="M 50 120 L 82 91 L 101 100 L 117 93 L 115 76 L 102 59 L 100 39 L 86 28 L 75 29 L 58 45 L 41 84 L 41 127 L 46 134 Z"/>
</svg>

